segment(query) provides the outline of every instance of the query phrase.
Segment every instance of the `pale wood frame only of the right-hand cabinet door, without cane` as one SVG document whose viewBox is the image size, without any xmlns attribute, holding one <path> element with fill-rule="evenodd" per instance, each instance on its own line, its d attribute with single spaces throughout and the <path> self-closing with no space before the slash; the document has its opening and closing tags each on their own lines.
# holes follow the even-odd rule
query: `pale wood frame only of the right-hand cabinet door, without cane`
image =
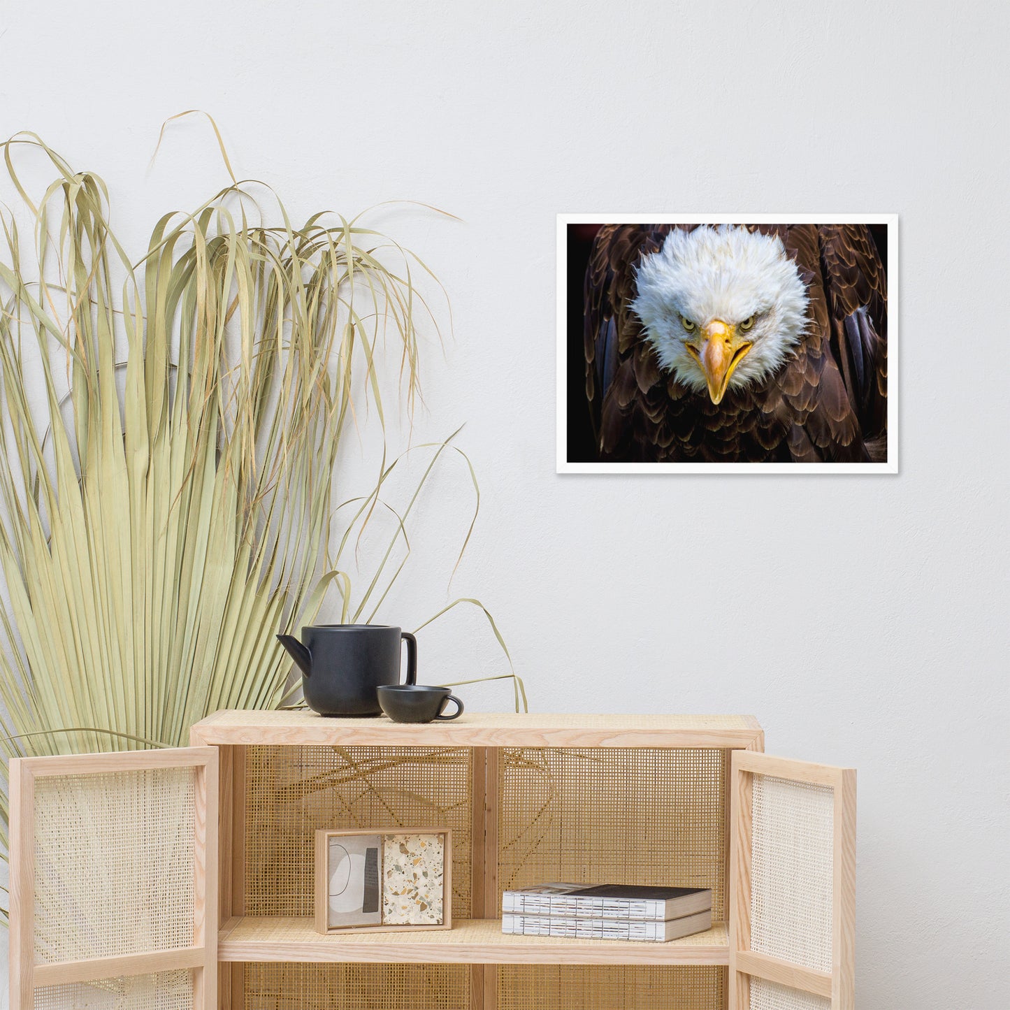
<svg viewBox="0 0 1010 1010">
<path fill-rule="evenodd" d="M 815 971 L 752 950 L 753 778 L 826 786 L 832 798 L 831 971 Z M 729 1010 L 752 1010 L 750 980 L 810 993 L 831 1010 L 855 1007 L 855 771 L 734 750 L 730 782 Z"/>
</svg>

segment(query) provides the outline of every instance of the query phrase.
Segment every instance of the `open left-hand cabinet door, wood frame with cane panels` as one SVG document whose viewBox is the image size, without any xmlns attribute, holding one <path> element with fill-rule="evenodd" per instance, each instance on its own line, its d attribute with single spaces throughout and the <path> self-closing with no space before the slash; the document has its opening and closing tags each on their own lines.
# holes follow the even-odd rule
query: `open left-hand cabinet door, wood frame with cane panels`
<svg viewBox="0 0 1010 1010">
<path fill-rule="evenodd" d="M 11 1010 L 213 1010 L 216 908 L 216 747 L 11 761 Z"/>
</svg>

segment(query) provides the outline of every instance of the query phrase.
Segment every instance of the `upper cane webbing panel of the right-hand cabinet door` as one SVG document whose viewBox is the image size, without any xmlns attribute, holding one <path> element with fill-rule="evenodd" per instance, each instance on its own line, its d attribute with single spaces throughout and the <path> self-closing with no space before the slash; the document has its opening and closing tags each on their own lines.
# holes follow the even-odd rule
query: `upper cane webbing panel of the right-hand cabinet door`
<svg viewBox="0 0 1010 1010">
<path fill-rule="evenodd" d="M 831 971 L 833 804 L 829 786 L 753 776 L 750 948 L 821 972 Z"/>
</svg>

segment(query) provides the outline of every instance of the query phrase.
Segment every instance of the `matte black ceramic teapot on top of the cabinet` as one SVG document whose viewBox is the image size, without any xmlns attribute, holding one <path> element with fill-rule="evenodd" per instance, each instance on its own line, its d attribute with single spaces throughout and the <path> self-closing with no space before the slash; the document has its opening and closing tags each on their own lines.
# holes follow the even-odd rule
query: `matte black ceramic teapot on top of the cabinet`
<svg viewBox="0 0 1010 1010">
<path fill-rule="evenodd" d="M 407 642 L 407 684 L 417 683 L 417 639 L 385 624 L 313 624 L 302 640 L 279 634 L 302 672 L 305 704 L 320 715 L 381 715 L 377 688 L 400 683 Z"/>
</svg>

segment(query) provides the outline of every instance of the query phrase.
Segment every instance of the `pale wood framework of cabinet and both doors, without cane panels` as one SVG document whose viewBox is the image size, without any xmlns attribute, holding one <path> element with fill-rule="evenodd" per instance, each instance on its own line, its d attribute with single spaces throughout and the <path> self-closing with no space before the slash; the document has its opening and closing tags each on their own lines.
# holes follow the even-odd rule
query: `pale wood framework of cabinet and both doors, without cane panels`
<svg viewBox="0 0 1010 1010">
<path fill-rule="evenodd" d="M 270 962 L 465 965 L 469 966 L 471 1010 L 496 1010 L 499 979 L 496 966 L 507 965 L 717 966 L 723 971 L 728 969 L 730 1010 L 752 1010 L 751 978 L 791 987 L 800 991 L 801 1000 L 819 1001 L 818 1006 L 830 1005 L 832 1010 L 853 1008 L 854 773 L 761 753 L 764 732 L 750 716 L 468 713 L 449 722 L 411 725 L 385 719 L 325 719 L 311 712 L 226 711 L 197 723 L 191 732 L 191 748 L 174 750 L 23 759 L 12 763 L 12 1010 L 33 1010 L 33 994 L 41 986 L 181 968 L 192 972 L 195 1010 L 210 1010 L 214 1006 L 237 1010 L 247 995 L 243 992 L 245 964 Z M 450 929 L 352 934 L 339 930 L 336 934 L 321 935 L 311 917 L 246 916 L 243 880 L 246 752 L 248 747 L 274 745 L 470 748 L 471 918 L 457 920 Z M 719 781 L 725 790 L 721 833 L 727 840 L 722 879 L 728 882 L 728 933 L 725 923 L 717 923 L 705 933 L 658 944 L 512 936 L 501 932 L 497 917 L 498 807 L 503 752 L 512 748 L 610 747 L 721 751 Z M 194 868 L 198 869 L 194 881 L 197 901 L 192 945 L 90 962 L 36 965 L 32 831 L 37 778 L 181 767 L 194 768 L 197 782 Z M 751 786 L 755 776 L 829 786 L 833 790 L 830 973 L 774 962 L 750 949 Z M 699 786 L 707 781 L 700 781 Z M 820 802 L 823 803 L 823 797 Z M 823 837 L 822 834 L 821 845 L 826 848 Z M 213 928 L 215 894 L 218 930 Z M 803 997 L 803 993 L 814 995 Z"/>
</svg>

